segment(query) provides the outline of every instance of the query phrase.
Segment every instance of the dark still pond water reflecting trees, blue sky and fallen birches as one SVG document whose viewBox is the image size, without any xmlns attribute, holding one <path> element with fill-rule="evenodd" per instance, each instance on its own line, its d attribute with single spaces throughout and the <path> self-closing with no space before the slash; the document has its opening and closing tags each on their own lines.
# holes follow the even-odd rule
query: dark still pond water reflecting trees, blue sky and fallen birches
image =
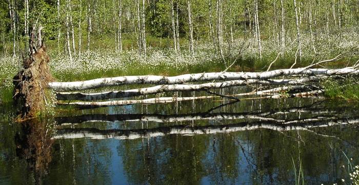
<svg viewBox="0 0 359 185">
<path fill-rule="evenodd" d="M 21 123 L 0 106 L 0 184 L 349 184 L 359 164 L 357 103 L 63 106 Z"/>
</svg>

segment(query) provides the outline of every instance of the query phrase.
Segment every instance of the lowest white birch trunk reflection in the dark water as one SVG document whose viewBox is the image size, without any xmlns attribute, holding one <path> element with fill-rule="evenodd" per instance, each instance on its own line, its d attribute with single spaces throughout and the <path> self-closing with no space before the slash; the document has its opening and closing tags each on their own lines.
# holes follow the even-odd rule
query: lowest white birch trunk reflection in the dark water
<svg viewBox="0 0 359 185">
<path fill-rule="evenodd" d="M 285 132 L 293 130 L 310 131 L 315 127 L 328 127 L 335 125 L 357 124 L 358 118 L 351 119 L 303 119 L 297 120 L 295 123 L 286 123 L 275 121 L 272 122 L 251 122 L 251 123 L 237 123 L 227 125 L 207 125 L 207 126 L 193 126 L 175 125 L 164 126 L 148 129 L 133 129 L 133 130 L 98 130 L 96 128 L 64 128 L 57 130 L 53 139 L 73 139 L 73 138 L 92 138 L 92 139 L 137 139 L 150 138 L 157 136 L 164 136 L 170 134 L 181 135 L 198 135 L 198 134 L 217 134 L 217 133 L 231 133 L 248 130 L 257 130 L 259 128 L 266 128 L 273 131 Z"/>
</svg>

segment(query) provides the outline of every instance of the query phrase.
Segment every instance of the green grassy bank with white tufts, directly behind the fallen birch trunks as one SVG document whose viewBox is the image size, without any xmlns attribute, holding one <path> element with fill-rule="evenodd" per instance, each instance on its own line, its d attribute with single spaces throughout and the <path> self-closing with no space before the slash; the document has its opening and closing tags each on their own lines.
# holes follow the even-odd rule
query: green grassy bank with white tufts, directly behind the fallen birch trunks
<svg viewBox="0 0 359 185">
<path fill-rule="evenodd" d="M 297 58 L 294 67 L 307 66 L 313 61 L 333 58 L 338 53 L 359 46 L 359 35 L 356 33 L 343 34 L 340 42 L 333 37 L 317 39 L 321 45 L 316 45 L 316 52 L 311 47 L 310 37 L 304 34 L 302 42 L 303 57 Z M 307 38 L 307 39 L 306 39 Z M 107 46 L 103 46 L 108 41 Z M 164 75 L 174 76 L 183 73 L 222 71 L 226 65 L 234 61 L 229 71 L 264 71 L 277 57 L 280 48 L 276 41 L 264 40 L 262 59 L 254 39 L 237 39 L 231 49 L 224 47 L 224 60 L 211 42 L 197 41 L 195 53 L 188 51 L 185 40 L 181 41 L 181 52 L 175 53 L 171 48 L 171 40 L 151 38 L 146 55 L 141 55 L 133 43 L 126 41 L 126 49 L 116 51 L 110 38 L 102 41 L 94 40 L 92 50 L 83 52 L 81 56 L 74 54 L 72 60 L 64 53 L 58 53 L 55 43 L 49 42 L 47 52 L 50 56 L 50 68 L 57 81 L 77 81 L 103 77 L 124 75 Z M 97 43 L 97 44 L 96 44 Z M 131 45 L 132 43 L 132 45 Z M 296 46 L 289 43 L 283 58 L 280 57 L 271 69 L 289 68 L 295 61 Z M 226 44 L 224 44 L 226 46 Z M 239 53 L 239 51 L 241 52 Z M 348 57 L 335 63 L 324 64 L 324 67 L 336 68 L 352 65 L 357 57 Z M 0 57 L 0 99 L 11 100 L 12 77 L 21 68 L 22 59 L 7 56 Z M 335 92 L 333 91 L 333 94 Z"/>
</svg>

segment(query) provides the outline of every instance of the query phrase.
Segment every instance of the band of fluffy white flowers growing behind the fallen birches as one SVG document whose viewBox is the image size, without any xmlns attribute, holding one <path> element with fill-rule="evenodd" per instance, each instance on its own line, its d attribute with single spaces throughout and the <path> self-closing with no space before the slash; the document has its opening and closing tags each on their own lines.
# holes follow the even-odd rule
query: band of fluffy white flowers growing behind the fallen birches
<svg viewBox="0 0 359 185">
<path fill-rule="evenodd" d="M 313 51 L 311 43 L 310 35 L 303 34 L 302 50 L 304 59 L 312 61 L 314 56 L 317 60 L 328 59 L 344 50 L 353 47 L 358 48 L 359 34 L 355 32 L 346 33 L 340 38 L 338 36 L 328 38 L 326 35 L 316 35 L 316 52 Z M 297 48 L 296 41 L 288 39 L 286 45 L 285 58 L 288 59 L 287 63 L 290 66 L 293 63 Z M 190 54 L 187 48 L 187 45 L 182 45 L 181 52 L 176 54 L 172 48 L 159 49 L 149 47 L 146 56 L 138 54 L 135 48 L 121 52 L 114 50 L 92 50 L 83 53 L 81 57 L 75 55 L 72 60 L 65 54 L 58 54 L 54 51 L 48 51 L 48 53 L 52 73 L 58 81 L 74 81 L 122 75 L 178 75 L 178 73 L 186 72 L 204 72 L 211 68 L 213 70 L 225 69 L 222 57 L 213 47 L 212 43 L 196 42 L 194 55 Z M 268 65 L 274 60 L 277 53 L 280 52 L 280 44 L 273 40 L 262 42 L 262 60 L 259 59 L 259 51 L 254 39 L 235 40 L 231 53 L 229 53 L 226 43 L 224 43 L 223 48 L 228 65 L 237 57 L 240 48 L 243 49 L 241 60 L 238 61 L 249 60 L 251 63 L 258 63 L 262 66 Z M 232 58 L 229 56 L 232 56 Z M 21 68 L 21 63 L 20 57 L 0 56 L 1 89 L 9 89 L 11 87 L 11 79 Z M 238 63 L 238 65 L 241 64 Z M 199 71 L 194 71 L 193 68 L 195 67 Z M 201 70 L 202 68 L 203 70 Z"/>
</svg>

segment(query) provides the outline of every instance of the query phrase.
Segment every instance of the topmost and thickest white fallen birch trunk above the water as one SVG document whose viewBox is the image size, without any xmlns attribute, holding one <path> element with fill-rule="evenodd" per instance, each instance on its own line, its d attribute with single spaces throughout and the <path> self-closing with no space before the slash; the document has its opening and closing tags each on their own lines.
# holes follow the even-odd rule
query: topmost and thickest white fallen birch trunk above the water
<svg viewBox="0 0 359 185">
<path fill-rule="evenodd" d="M 264 72 L 204 72 L 179 75 L 174 77 L 165 76 L 125 76 L 113 78 L 100 78 L 78 82 L 51 82 L 49 88 L 55 91 L 86 90 L 99 87 L 119 86 L 125 84 L 183 84 L 186 82 L 211 81 L 211 80 L 268 80 L 279 76 L 331 76 L 331 75 L 348 75 L 350 73 L 359 73 L 359 69 L 346 67 L 341 69 L 277 69 Z"/>
</svg>

